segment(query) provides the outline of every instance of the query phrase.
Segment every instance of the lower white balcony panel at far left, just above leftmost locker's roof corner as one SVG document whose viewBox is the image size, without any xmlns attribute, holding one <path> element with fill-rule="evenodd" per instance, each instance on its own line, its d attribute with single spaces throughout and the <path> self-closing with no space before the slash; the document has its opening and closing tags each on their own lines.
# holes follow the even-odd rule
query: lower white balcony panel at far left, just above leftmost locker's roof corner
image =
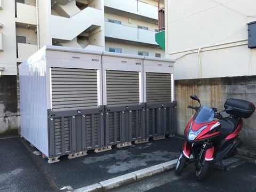
<svg viewBox="0 0 256 192">
<path fill-rule="evenodd" d="M 26 61 L 35 52 L 37 52 L 37 45 L 18 43 L 19 58 L 17 58 L 17 62 Z"/>
</svg>

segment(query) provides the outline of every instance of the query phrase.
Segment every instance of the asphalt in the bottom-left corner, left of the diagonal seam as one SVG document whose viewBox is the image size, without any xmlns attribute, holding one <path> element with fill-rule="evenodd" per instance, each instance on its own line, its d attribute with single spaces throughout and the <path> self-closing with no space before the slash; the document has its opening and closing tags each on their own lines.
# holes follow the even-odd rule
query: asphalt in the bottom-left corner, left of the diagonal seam
<svg viewBox="0 0 256 192">
<path fill-rule="evenodd" d="M 0 191 L 54 191 L 20 138 L 0 139 Z"/>
</svg>

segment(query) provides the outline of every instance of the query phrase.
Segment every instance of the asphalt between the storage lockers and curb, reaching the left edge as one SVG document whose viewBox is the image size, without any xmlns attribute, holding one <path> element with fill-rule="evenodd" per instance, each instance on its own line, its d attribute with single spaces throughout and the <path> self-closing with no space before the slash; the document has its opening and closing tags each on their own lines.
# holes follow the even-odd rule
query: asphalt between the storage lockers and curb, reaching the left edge
<svg viewBox="0 0 256 192">
<path fill-rule="evenodd" d="M 179 156 L 183 139 L 150 140 L 74 159 L 60 157 L 48 164 L 35 147 L 21 138 L 0 140 L 0 191 L 77 189 L 165 163 Z"/>
</svg>

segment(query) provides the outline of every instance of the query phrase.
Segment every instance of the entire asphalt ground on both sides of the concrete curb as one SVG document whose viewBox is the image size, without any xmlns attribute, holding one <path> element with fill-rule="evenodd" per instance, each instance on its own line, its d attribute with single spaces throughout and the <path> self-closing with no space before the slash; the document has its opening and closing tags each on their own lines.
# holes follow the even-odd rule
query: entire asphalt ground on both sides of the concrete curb
<svg viewBox="0 0 256 192">
<path fill-rule="evenodd" d="M 125 175 L 133 177 L 132 183 L 111 191 L 256 191 L 255 158 L 227 159 L 224 163 L 228 171 L 222 171 L 218 164 L 211 165 L 203 182 L 196 181 L 193 163 L 180 177 L 174 170 L 167 171 L 174 166 L 168 162 L 179 156 L 182 142 L 178 137 L 150 140 L 124 148 L 113 147 L 102 153 L 89 151 L 87 156 L 74 159 L 63 156 L 60 162 L 48 164 L 27 141 L 0 139 L 0 191 L 60 191 L 63 187 L 67 188 L 63 191 L 84 191 L 83 187 L 104 185 Z M 159 167 L 162 171 L 157 172 Z M 148 177 L 149 173 L 160 174 Z M 140 180 L 142 174 L 146 179 Z M 101 186 L 99 191 L 103 189 Z"/>
</svg>

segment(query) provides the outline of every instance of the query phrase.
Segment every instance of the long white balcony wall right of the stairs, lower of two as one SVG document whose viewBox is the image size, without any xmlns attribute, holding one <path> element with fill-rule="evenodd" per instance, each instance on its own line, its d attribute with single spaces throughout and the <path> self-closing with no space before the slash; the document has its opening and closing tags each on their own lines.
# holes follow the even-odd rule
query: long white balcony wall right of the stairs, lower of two
<svg viewBox="0 0 256 192">
<path fill-rule="evenodd" d="M 155 31 L 105 22 L 105 36 L 109 38 L 157 45 L 155 42 L 155 34 Z"/>
</svg>

